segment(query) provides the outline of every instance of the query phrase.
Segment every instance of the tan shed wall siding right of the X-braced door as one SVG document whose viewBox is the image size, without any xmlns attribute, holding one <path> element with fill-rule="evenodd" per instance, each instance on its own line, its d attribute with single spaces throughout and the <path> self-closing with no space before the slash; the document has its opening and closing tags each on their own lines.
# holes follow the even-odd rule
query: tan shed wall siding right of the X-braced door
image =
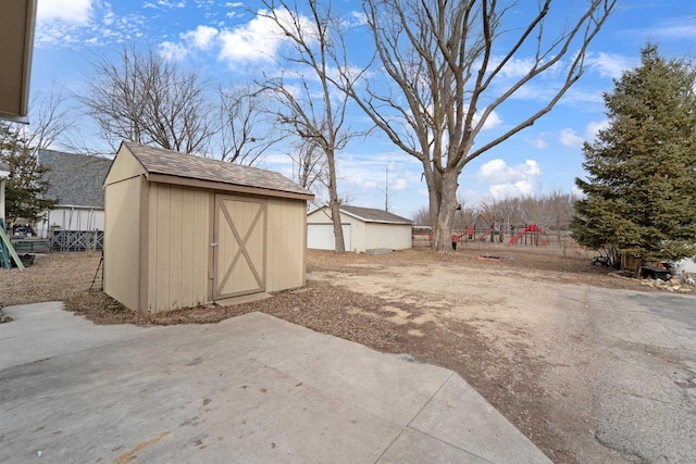
<svg viewBox="0 0 696 464">
<path fill-rule="evenodd" d="M 304 285 L 307 202 L 268 200 L 266 291 Z"/>
</svg>

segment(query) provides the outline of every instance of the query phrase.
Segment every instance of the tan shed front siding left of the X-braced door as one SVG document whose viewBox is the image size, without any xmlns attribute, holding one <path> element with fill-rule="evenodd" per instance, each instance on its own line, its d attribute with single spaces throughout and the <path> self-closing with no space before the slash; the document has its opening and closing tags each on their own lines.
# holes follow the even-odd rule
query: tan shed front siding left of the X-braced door
<svg viewBox="0 0 696 464">
<path fill-rule="evenodd" d="M 212 193 L 150 183 L 148 311 L 210 301 L 208 291 Z"/>
</svg>

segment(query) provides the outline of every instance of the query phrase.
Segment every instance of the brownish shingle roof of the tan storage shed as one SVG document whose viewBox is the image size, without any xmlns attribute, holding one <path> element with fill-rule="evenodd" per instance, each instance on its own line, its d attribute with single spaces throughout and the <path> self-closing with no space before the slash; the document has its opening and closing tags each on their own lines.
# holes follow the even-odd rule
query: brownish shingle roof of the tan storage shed
<svg viewBox="0 0 696 464">
<path fill-rule="evenodd" d="M 176 151 L 148 147 L 129 141 L 124 141 L 123 145 L 133 153 L 148 173 L 245 187 L 258 187 L 313 197 L 311 191 L 273 171 L 178 153 Z"/>
</svg>

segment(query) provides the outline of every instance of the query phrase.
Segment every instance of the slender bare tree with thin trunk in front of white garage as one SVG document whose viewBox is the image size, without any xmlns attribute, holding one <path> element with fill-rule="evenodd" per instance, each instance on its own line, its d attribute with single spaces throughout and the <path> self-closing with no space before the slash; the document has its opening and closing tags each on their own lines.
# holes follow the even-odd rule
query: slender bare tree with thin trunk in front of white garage
<svg viewBox="0 0 696 464">
<path fill-rule="evenodd" d="M 308 0 L 309 16 L 283 0 L 264 0 L 263 4 L 268 10 L 259 15 L 273 21 L 288 50 L 281 63 L 284 74 L 261 84 L 281 103 L 278 122 L 325 156 L 336 252 L 343 253 L 336 155 L 357 134 L 346 125 L 348 96 L 335 88 L 331 76 L 336 66 L 346 66 L 341 24 L 332 17 L 331 2 Z"/>
</svg>

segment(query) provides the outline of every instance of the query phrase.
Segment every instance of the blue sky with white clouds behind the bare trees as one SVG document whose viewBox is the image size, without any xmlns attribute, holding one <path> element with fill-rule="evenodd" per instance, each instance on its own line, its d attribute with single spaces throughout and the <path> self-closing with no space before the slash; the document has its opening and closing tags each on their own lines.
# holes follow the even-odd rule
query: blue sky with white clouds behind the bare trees
<svg viewBox="0 0 696 464">
<path fill-rule="evenodd" d="M 582 4 L 583 1 L 558 1 Z M 573 179 L 583 175 L 582 143 L 606 125 L 602 92 L 612 78 L 638 64 L 639 49 L 651 40 L 664 57 L 696 57 L 696 7 L 683 0 L 619 0 L 619 9 L 591 45 L 587 70 L 548 115 L 502 145 L 472 161 L 460 177 L 460 197 L 474 205 L 486 198 L 570 192 Z M 253 14 L 254 1 L 214 0 L 38 0 L 38 22 L 32 72 L 33 96 L 52 89 L 80 93 L 91 76 L 91 64 L 110 58 L 124 46 L 150 47 L 182 67 L 192 67 L 215 86 L 243 84 L 272 67 L 271 58 L 282 50 L 277 37 Z M 535 5 L 521 0 L 519 8 Z M 353 22 L 347 46 L 362 50 L 359 1 L 334 0 L 334 7 Z M 552 79 L 549 76 L 548 79 Z M 549 86 L 552 83 L 548 83 Z M 490 131 L 519 122 L 518 111 L 538 101 L 542 88 L 523 92 L 514 104 L 496 113 Z M 71 104 L 71 102 L 67 102 Z M 517 110 L 515 110 L 517 109 Z M 100 143 L 89 121 L 74 106 L 75 134 L 88 145 Z M 517 118 L 515 118 L 517 116 Z M 353 126 L 364 122 L 351 113 Z M 61 148 L 60 146 L 57 148 Z M 360 206 L 383 208 L 386 166 L 389 210 L 407 217 L 427 205 L 420 162 L 397 150 L 378 131 L 350 143 L 338 160 L 339 190 Z M 290 175 L 290 160 L 283 148 L 269 153 L 263 167 Z"/>
</svg>

